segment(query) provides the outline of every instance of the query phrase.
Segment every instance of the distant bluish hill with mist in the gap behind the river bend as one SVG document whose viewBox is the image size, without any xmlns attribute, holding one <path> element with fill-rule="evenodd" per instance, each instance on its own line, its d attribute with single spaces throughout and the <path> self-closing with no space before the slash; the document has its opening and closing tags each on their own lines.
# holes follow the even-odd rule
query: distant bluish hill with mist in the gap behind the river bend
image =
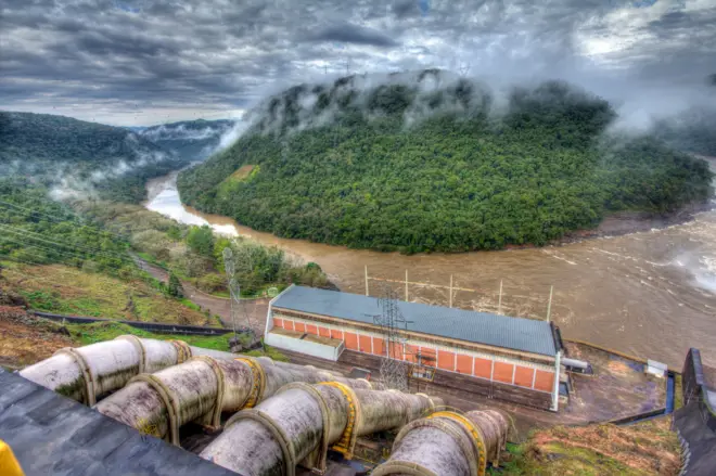
<svg viewBox="0 0 716 476">
<path fill-rule="evenodd" d="M 221 141 L 221 136 L 233 127 L 233 120 L 184 120 L 163 124 L 138 131 L 142 138 L 175 152 L 188 160 L 208 157 Z"/>
</svg>

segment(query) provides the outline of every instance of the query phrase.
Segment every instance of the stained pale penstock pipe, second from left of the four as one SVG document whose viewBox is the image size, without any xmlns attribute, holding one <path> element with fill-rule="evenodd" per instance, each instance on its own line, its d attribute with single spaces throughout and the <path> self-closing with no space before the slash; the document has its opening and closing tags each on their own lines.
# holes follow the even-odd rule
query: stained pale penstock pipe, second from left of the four
<svg viewBox="0 0 716 476">
<path fill-rule="evenodd" d="M 370 388 L 324 370 L 274 362 L 267 357 L 214 359 L 193 357 L 153 374 L 140 374 L 94 406 L 142 433 L 179 445 L 179 428 L 196 422 L 219 427 L 221 413 L 253 408 L 292 382 L 340 381 L 351 388 Z"/>
</svg>

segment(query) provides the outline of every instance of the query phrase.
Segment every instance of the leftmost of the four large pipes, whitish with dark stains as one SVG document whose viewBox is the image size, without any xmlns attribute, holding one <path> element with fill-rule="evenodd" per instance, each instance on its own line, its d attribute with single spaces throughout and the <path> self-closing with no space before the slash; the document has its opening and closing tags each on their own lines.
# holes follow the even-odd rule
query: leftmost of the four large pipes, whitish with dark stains
<svg viewBox="0 0 716 476">
<path fill-rule="evenodd" d="M 63 348 L 29 365 L 20 375 L 85 404 L 124 387 L 140 373 L 153 373 L 184 362 L 192 356 L 233 359 L 219 350 L 193 347 L 182 340 L 157 340 L 123 335 L 77 348 Z"/>
</svg>

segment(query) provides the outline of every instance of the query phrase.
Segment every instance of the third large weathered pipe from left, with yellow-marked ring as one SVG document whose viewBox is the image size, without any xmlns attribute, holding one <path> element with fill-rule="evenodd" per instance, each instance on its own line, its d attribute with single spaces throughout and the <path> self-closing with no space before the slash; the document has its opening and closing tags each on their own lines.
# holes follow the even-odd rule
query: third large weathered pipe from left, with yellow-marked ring
<svg viewBox="0 0 716 476">
<path fill-rule="evenodd" d="M 297 464 L 322 472 L 329 448 L 351 458 L 357 437 L 400 427 L 442 404 L 422 394 L 340 382 L 291 384 L 233 415 L 200 455 L 246 476 L 293 476 Z"/>
</svg>

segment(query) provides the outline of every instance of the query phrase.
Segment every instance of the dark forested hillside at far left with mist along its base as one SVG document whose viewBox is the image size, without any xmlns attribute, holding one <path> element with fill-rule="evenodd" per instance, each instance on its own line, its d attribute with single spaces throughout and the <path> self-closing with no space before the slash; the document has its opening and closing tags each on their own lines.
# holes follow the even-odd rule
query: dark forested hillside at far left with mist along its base
<svg viewBox="0 0 716 476">
<path fill-rule="evenodd" d="M 0 112 L 0 175 L 68 193 L 139 202 L 150 177 L 188 160 L 119 127 L 48 114 Z"/>
</svg>

